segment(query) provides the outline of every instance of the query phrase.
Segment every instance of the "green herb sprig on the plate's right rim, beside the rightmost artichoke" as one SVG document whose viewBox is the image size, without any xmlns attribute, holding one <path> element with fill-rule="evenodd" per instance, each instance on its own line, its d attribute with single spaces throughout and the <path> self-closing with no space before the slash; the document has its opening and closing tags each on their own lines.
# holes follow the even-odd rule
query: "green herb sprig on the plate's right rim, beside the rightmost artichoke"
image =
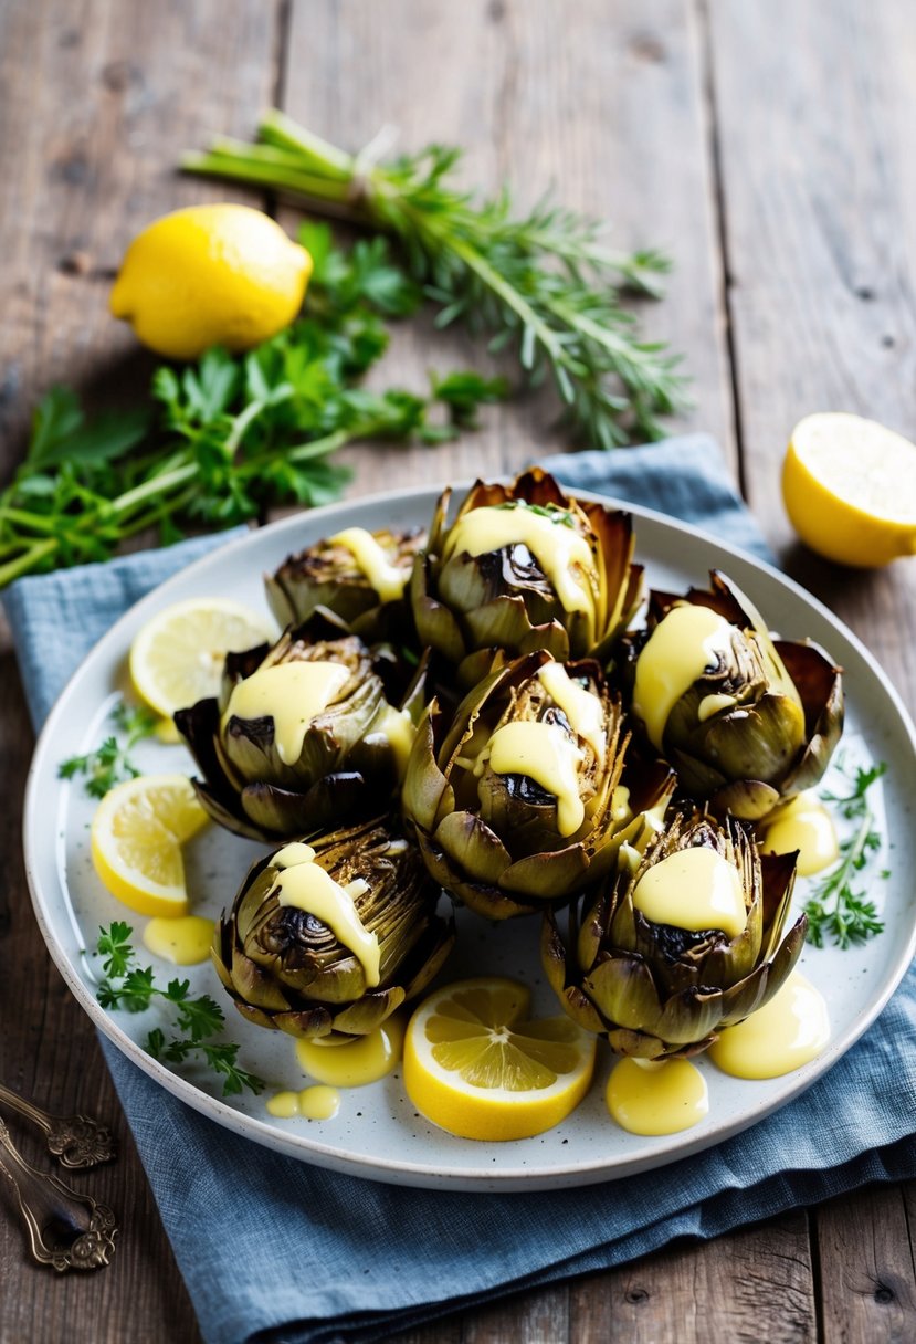
<svg viewBox="0 0 916 1344">
<path fill-rule="evenodd" d="M 838 762 L 843 770 L 842 761 Z M 854 828 L 839 844 L 839 859 L 834 868 L 817 884 L 814 895 L 805 903 L 809 918 L 807 937 L 815 948 L 822 948 L 830 938 L 839 948 L 866 942 L 881 933 L 876 905 L 869 900 L 860 884 L 869 859 L 881 849 L 881 835 L 874 825 L 874 814 L 868 802 L 868 790 L 886 771 L 881 762 L 874 766 L 857 766 L 848 793 L 837 794 L 825 790 L 821 797 L 831 802 L 839 814 Z M 880 874 L 886 878 L 886 870 Z"/>
</svg>

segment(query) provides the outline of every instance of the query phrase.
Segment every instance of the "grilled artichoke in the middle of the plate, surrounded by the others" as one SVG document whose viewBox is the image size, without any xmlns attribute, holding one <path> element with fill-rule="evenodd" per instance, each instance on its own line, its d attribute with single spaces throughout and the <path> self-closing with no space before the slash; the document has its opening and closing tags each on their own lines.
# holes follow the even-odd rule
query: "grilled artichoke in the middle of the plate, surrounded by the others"
<svg viewBox="0 0 916 1344">
<path fill-rule="evenodd" d="M 598 880 L 621 833 L 634 833 L 633 813 L 670 792 L 662 771 L 627 796 L 626 743 L 619 700 L 591 660 L 517 659 L 469 692 L 451 723 L 432 700 L 402 793 L 431 875 L 493 919 Z"/>
</svg>

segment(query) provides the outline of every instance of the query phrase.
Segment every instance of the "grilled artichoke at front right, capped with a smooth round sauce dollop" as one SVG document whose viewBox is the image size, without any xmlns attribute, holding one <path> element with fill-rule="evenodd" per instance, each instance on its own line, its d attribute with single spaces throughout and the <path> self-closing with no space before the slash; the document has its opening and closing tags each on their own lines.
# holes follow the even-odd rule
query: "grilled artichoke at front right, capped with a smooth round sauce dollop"
<svg viewBox="0 0 916 1344">
<path fill-rule="evenodd" d="M 642 1059 L 705 1050 L 795 965 L 807 921 L 780 943 L 795 855 L 759 855 L 728 817 L 676 816 L 588 906 L 564 946 L 552 913 L 547 976 L 569 1016 Z"/>
</svg>

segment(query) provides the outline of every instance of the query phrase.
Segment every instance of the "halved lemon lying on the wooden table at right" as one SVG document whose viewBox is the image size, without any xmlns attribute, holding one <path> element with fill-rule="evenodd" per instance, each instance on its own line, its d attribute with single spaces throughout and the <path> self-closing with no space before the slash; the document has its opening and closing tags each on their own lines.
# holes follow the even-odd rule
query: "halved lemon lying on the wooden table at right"
<svg viewBox="0 0 916 1344">
<path fill-rule="evenodd" d="M 792 527 L 830 560 L 872 569 L 916 551 L 916 444 L 876 421 L 799 421 L 782 488 Z"/>
</svg>

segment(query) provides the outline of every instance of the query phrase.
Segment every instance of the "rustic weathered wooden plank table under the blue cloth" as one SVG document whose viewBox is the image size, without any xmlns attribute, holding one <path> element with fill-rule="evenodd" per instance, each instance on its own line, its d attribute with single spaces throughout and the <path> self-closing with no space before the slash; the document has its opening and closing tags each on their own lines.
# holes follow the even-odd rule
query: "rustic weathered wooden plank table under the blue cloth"
<svg viewBox="0 0 916 1344">
<path fill-rule="evenodd" d="M 248 136 L 271 102 L 352 148 L 394 122 L 404 146 L 466 145 L 469 183 L 510 179 L 526 203 L 553 184 L 612 220 L 621 245 L 672 253 L 668 297 L 645 321 L 693 376 L 696 409 L 677 427 L 717 435 L 784 567 L 916 707 L 912 562 L 818 563 L 792 544 L 779 499 L 802 414 L 916 430 L 909 0 L 0 0 L 0 62 L 4 476 L 52 382 L 91 392 L 148 376 L 106 314 L 113 267 L 156 215 L 238 195 L 176 176 L 181 149 Z M 416 380 L 455 353 L 406 331 L 388 371 Z M 540 407 L 486 419 L 451 448 L 353 450 L 353 491 L 494 473 L 559 446 Z M 0 1340 L 191 1344 L 193 1312 L 94 1032 L 31 915 L 19 827 L 32 734 L 8 638 L 0 659 L 0 1078 L 52 1110 L 111 1118 L 122 1156 L 95 1184 L 124 1224 L 110 1269 L 58 1279 L 26 1261 L 0 1203 Z M 915 1339 L 915 1200 L 912 1185 L 864 1189 L 410 1339 Z"/>
</svg>

